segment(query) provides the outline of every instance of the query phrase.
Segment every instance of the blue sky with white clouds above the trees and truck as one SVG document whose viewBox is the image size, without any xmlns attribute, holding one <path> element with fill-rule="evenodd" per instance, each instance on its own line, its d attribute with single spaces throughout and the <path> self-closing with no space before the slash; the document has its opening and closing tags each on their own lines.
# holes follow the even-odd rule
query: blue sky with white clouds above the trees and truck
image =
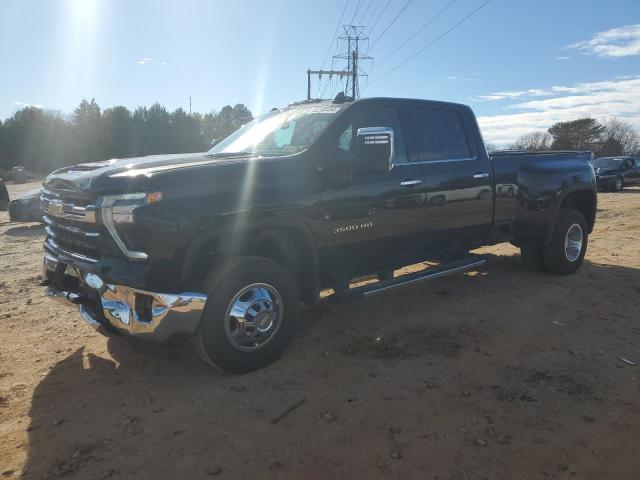
<svg viewBox="0 0 640 480">
<path fill-rule="evenodd" d="M 304 99 L 308 68 L 345 68 L 335 33 L 353 23 L 362 96 L 468 104 L 498 145 L 585 116 L 640 128 L 640 0 L 486 2 L 0 0 L 0 120 L 83 98 L 258 115 Z"/>
</svg>

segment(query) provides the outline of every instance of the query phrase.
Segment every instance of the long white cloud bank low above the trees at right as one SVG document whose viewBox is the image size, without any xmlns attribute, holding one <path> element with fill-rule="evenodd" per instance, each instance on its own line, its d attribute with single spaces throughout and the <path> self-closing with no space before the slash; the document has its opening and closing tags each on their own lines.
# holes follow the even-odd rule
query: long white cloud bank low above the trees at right
<svg viewBox="0 0 640 480">
<path fill-rule="evenodd" d="M 640 75 L 546 89 L 498 92 L 478 98 L 497 96 L 500 100 L 512 101 L 504 106 L 509 113 L 478 118 L 485 139 L 491 143 L 509 144 L 525 133 L 544 131 L 556 122 L 581 117 L 604 120 L 615 116 L 640 128 Z"/>
</svg>

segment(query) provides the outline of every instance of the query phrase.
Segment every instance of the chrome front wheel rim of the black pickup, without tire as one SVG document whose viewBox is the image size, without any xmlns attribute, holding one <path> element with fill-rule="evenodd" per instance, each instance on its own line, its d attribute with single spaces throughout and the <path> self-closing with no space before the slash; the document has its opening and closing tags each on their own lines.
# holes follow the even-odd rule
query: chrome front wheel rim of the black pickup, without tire
<svg viewBox="0 0 640 480">
<path fill-rule="evenodd" d="M 227 339 L 238 350 L 260 350 L 280 330 L 283 310 L 282 297 L 271 285 L 254 283 L 244 287 L 227 307 Z"/>
</svg>

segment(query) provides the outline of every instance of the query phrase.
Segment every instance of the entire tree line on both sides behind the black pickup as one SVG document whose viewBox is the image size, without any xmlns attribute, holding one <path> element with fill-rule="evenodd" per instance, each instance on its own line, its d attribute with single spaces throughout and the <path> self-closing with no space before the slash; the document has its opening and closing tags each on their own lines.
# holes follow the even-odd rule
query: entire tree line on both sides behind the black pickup
<svg viewBox="0 0 640 480">
<path fill-rule="evenodd" d="M 26 107 L 0 121 L 0 176 L 17 165 L 44 175 L 109 158 L 202 152 L 252 119 L 241 103 L 206 114 L 188 114 L 182 108 L 169 112 L 159 103 L 134 111 L 123 106 L 101 110 L 94 99 L 82 100 L 70 116 Z M 588 150 L 596 157 L 640 155 L 640 134 L 618 118 L 602 123 L 580 118 L 523 135 L 510 148 Z"/>
</svg>

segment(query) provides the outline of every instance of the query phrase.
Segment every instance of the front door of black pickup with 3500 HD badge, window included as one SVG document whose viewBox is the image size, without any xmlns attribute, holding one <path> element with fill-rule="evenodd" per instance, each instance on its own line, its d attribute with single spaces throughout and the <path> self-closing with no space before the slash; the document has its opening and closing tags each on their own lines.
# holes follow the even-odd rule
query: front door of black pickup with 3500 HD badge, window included
<svg viewBox="0 0 640 480">
<path fill-rule="evenodd" d="M 356 134 L 363 127 L 394 132 L 392 168 L 384 173 L 353 172 L 323 195 L 323 218 L 332 270 L 338 277 L 376 273 L 419 256 L 426 208 L 423 167 L 407 164 L 398 111 L 366 106 L 335 138 L 339 170 L 349 170 Z M 334 150 L 335 151 L 335 150 Z M 394 168 L 406 164 L 403 168 Z"/>
</svg>

